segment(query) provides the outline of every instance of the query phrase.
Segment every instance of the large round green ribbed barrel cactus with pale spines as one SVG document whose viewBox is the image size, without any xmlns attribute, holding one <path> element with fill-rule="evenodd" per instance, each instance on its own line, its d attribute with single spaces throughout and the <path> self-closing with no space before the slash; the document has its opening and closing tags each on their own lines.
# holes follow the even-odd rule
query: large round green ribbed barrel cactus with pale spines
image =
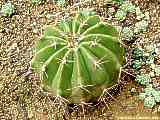
<svg viewBox="0 0 160 120">
<path fill-rule="evenodd" d="M 53 95 L 92 102 L 117 81 L 123 51 L 112 25 L 97 15 L 77 13 L 46 27 L 31 65 Z"/>
</svg>

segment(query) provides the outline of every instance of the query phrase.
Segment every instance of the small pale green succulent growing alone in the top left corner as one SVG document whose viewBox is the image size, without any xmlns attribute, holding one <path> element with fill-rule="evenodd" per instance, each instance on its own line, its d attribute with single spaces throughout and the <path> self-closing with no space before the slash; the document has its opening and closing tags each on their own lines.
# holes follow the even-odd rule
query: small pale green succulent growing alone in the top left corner
<svg viewBox="0 0 160 120">
<path fill-rule="evenodd" d="M 8 2 L 2 5 L 1 13 L 4 16 L 11 16 L 15 12 L 15 7 L 12 3 Z"/>
</svg>

